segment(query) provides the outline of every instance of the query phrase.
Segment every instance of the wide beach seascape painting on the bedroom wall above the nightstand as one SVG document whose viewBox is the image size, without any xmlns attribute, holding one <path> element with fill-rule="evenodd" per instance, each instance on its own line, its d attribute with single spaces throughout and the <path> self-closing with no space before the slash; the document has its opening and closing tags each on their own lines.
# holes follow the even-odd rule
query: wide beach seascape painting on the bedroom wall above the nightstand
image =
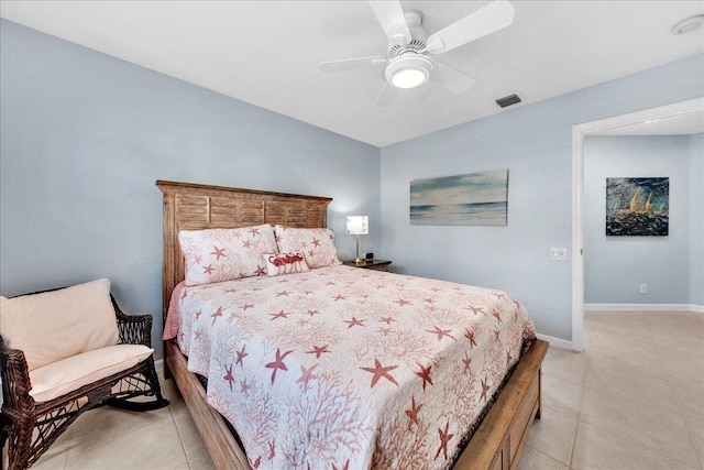
<svg viewBox="0 0 704 470">
<path fill-rule="evenodd" d="M 410 223 L 506 226 L 508 170 L 410 182 Z"/>
</svg>

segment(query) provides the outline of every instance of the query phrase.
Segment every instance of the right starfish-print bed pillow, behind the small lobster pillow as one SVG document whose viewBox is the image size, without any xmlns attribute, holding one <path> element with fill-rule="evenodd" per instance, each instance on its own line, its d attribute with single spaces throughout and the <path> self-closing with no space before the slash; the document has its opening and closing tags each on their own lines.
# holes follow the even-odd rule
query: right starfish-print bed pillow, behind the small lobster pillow
<svg viewBox="0 0 704 470">
<path fill-rule="evenodd" d="M 294 229 L 276 226 L 278 251 L 302 251 L 306 263 L 311 269 L 342 264 L 334 247 L 334 233 L 330 229 Z"/>
</svg>

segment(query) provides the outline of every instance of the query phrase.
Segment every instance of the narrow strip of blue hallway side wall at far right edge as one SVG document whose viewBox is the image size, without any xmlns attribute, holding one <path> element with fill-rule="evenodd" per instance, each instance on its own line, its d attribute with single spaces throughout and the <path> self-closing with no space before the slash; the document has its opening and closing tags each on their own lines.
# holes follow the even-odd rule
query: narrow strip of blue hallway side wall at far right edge
<svg viewBox="0 0 704 470">
<path fill-rule="evenodd" d="M 704 133 L 690 138 L 690 304 L 704 306 Z"/>
</svg>

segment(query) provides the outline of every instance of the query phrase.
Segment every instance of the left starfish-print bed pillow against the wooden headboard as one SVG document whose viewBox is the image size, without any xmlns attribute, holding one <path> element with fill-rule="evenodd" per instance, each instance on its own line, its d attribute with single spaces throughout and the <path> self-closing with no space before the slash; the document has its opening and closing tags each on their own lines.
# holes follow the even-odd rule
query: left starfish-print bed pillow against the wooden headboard
<svg viewBox="0 0 704 470">
<path fill-rule="evenodd" d="M 277 251 L 268 223 L 240 229 L 182 230 L 178 243 L 189 286 L 265 275 L 262 255 Z"/>
</svg>

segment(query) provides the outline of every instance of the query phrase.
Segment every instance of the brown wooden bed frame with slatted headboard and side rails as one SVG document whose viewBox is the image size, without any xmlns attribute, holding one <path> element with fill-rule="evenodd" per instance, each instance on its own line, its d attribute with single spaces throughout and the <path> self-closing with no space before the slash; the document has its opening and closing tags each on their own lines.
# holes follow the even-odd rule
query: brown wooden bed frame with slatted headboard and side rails
<svg viewBox="0 0 704 470">
<path fill-rule="evenodd" d="M 164 321 L 174 287 L 184 280 L 179 230 L 237 228 L 260 223 L 327 226 L 331 198 L 157 181 L 164 195 Z M 509 470 L 518 463 L 532 418 L 541 411 L 541 364 L 548 343 L 536 340 L 521 357 L 454 469 Z M 174 341 L 165 341 L 165 373 L 173 374 L 218 469 L 251 469 L 224 418 L 206 403 L 206 391 L 188 371 Z"/>
</svg>

